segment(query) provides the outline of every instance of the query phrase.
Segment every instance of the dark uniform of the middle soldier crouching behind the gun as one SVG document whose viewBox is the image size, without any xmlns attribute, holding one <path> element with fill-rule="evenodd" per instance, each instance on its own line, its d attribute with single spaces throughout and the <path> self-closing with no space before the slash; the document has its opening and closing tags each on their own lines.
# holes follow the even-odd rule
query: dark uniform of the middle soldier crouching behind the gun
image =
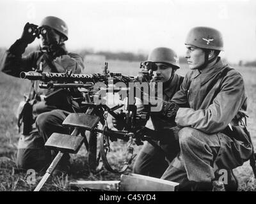
<svg viewBox="0 0 256 204">
<path fill-rule="evenodd" d="M 183 78 L 184 77 L 177 74 L 173 75 L 172 80 L 168 85 L 165 85 L 163 90 L 163 100 L 170 100 L 175 92 L 179 91 Z M 138 112 L 147 112 L 149 107 L 138 104 L 137 108 Z M 173 122 L 163 119 L 163 116 L 159 112 L 151 112 L 150 117 L 154 129 L 156 130 L 169 129 L 173 127 Z M 170 138 L 168 144 L 158 143 L 158 145 L 163 150 L 153 147 L 148 142 L 144 142 L 143 148 L 140 150 L 140 154 L 134 163 L 134 173 L 157 178 L 160 178 L 163 175 L 166 168 L 168 168 L 168 161 L 172 161 L 172 159 L 177 156 L 177 153 L 179 152 L 179 143 L 175 138 Z"/>
</svg>

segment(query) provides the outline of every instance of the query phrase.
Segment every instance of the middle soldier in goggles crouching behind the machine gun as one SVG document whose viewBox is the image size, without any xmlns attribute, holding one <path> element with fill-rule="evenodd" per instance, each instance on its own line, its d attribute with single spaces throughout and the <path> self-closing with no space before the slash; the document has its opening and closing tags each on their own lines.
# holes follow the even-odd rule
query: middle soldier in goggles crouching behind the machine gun
<svg viewBox="0 0 256 204">
<path fill-rule="evenodd" d="M 145 64 L 148 63 L 150 63 L 154 74 L 152 82 L 163 82 L 163 99 L 170 100 L 175 92 L 180 89 L 180 84 L 184 78 L 175 73 L 180 68 L 179 57 L 170 48 L 158 47 L 148 55 Z M 138 101 L 138 98 L 136 101 Z M 140 102 L 136 102 L 136 105 L 138 112 L 149 112 L 150 106 L 144 106 Z M 163 119 L 159 112 L 151 112 L 151 120 L 154 129 L 165 131 L 164 135 L 168 136 L 168 130 L 173 127 L 173 122 Z M 146 122 L 141 121 L 140 125 L 145 125 Z M 113 126 L 122 129 L 118 126 L 119 124 L 120 121 L 113 119 Z M 156 178 L 163 175 L 166 168 L 168 168 L 168 161 L 172 161 L 179 152 L 179 143 L 174 138 L 170 138 L 168 144 L 159 143 L 158 145 L 161 148 L 153 147 L 150 143 L 144 142 L 143 148 L 134 163 L 134 173 Z"/>
</svg>

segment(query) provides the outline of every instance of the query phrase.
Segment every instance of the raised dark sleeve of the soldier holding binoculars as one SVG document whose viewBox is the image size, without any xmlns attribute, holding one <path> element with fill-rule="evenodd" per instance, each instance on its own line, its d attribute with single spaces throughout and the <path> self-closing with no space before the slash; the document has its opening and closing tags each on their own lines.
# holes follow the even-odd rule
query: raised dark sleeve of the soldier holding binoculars
<svg viewBox="0 0 256 204">
<path fill-rule="evenodd" d="M 36 66 L 35 52 L 31 52 L 26 57 L 22 57 L 26 47 L 26 43 L 17 40 L 6 50 L 2 68 L 4 73 L 12 75 L 13 77 L 20 77 L 20 72 L 31 71 L 31 69 Z"/>
</svg>

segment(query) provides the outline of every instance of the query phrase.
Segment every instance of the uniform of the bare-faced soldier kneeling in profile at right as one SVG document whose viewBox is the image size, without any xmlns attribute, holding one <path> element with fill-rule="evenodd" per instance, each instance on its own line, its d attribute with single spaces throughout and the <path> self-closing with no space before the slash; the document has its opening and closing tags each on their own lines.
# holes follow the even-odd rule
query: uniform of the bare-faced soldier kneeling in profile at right
<svg viewBox="0 0 256 204">
<path fill-rule="evenodd" d="M 216 81 L 226 68 L 230 70 Z M 243 77 L 220 57 L 209 68 L 189 71 L 172 98 L 180 106 L 175 117 L 180 153 L 161 179 L 207 183 L 216 170 L 232 170 L 247 161 L 251 143 L 232 138 L 226 131 L 230 131 L 228 124 L 239 125 L 236 115 L 246 110 L 246 99 Z"/>
</svg>

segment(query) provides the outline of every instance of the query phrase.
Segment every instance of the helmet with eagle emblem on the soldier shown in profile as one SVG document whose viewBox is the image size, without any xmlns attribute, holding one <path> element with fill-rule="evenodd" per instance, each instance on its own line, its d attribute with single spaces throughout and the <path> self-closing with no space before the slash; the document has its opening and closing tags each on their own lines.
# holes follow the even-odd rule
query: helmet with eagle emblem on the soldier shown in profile
<svg viewBox="0 0 256 204">
<path fill-rule="evenodd" d="M 214 28 L 193 27 L 188 33 L 185 45 L 223 51 L 223 38 L 220 31 Z"/>
</svg>

